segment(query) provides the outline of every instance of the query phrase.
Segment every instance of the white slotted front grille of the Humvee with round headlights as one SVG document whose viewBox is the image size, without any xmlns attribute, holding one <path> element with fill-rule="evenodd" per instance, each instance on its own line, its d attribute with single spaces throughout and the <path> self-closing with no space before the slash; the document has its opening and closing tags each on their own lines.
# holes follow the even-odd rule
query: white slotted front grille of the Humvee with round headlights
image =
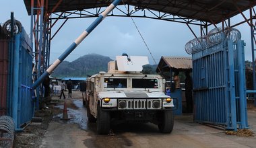
<svg viewBox="0 0 256 148">
<path fill-rule="evenodd" d="M 119 110 L 156 110 L 162 108 L 162 99 L 119 99 L 120 102 L 125 102 L 125 107 L 118 106 Z M 154 106 L 154 102 L 159 102 L 159 107 Z"/>
</svg>

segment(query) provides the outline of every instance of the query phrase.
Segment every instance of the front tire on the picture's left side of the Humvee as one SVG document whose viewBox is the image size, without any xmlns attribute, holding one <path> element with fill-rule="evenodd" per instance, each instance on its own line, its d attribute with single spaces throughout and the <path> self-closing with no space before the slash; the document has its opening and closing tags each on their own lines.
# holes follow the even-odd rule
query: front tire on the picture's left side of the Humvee
<svg viewBox="0 0 256 148">
<path fill-rule="evenodd" d="M 110 130 L 110 114 L 100 108 L 97 108 L 97 133 L 99 135 L 106 135 Z"/>
</svg>

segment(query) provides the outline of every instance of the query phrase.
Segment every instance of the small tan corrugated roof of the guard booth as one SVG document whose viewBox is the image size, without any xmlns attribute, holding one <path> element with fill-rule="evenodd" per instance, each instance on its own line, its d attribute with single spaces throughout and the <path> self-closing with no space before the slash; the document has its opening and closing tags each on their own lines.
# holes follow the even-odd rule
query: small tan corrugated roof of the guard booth
<svg viewBox="0 0 256 148">
<path fill-rule="evenodd" d="M 164 61 L 169 68 L 192 69 L 192 59 L 190 57 L 162 57 L 160 63 L 161 61 Z"/>
</svg>

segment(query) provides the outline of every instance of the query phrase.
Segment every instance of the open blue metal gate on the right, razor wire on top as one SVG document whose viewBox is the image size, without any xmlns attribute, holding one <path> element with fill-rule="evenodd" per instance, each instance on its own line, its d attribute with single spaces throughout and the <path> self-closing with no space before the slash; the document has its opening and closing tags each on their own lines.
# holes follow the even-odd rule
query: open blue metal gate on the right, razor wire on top
<svg viewBox="0 0 256 148">
<path fill-rule="evenodd" d="M 197 44 L 197 49 L 191 51 L 194 120 L 236 131 L 237 127 L 247 128 L 248 123 L 244 42 L 237 32 L 232 33 L 220 30 L 218 34 L 209 34 L 204 41 L 197 39 L 200 47 Z M 210 42 L 213 38 L 218 41 Z"/>
</svg>

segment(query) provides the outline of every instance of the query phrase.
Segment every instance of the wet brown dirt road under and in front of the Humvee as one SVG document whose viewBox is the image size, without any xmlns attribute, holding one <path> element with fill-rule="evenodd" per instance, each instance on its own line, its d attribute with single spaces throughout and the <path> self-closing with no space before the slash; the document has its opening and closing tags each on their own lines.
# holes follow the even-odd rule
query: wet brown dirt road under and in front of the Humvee
<svg viewBox="0 0 256 148">
<path fill-rule="evenodd" d="M 112 127 L 113 135 L 97 135 L 96 124 L 88 123 L 82 100 L 68 100 L 69 121 L 54 117 L 40 147 L 255 147 L 255 137 L 225 135 L 224 131 L 193 122 L 193 117 L 177 116 L 171 134 L 158 133 L 154 124 L 129 123 Z M 57 106 L 63 108 L 63 106 Z M 256 112 L 249 112 L 255 124 Z M 251 129 L 256 133 L 255 126 Z"/>
</svg>

